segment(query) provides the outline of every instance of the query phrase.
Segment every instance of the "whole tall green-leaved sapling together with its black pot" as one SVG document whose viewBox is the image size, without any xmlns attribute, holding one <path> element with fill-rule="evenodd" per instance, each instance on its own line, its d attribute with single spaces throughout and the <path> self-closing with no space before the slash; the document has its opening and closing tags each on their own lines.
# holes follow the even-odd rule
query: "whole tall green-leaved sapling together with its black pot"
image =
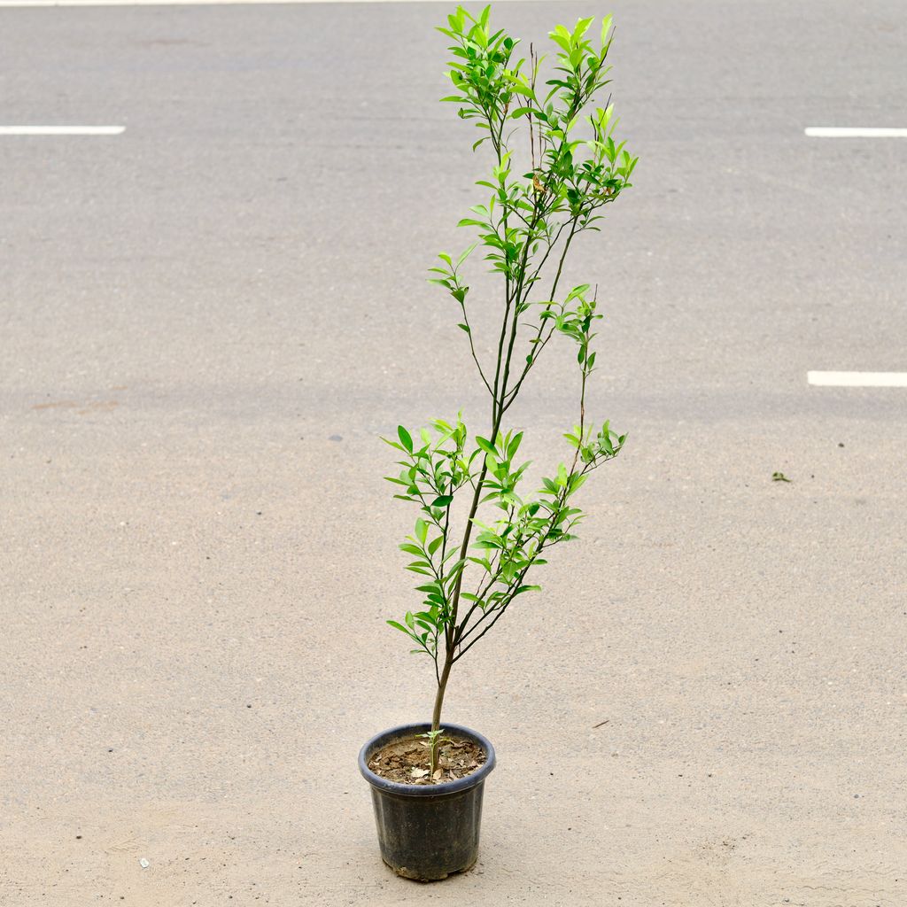
<svg viewBox="0 0 907 907">
<path fill-rule="evenodd" d="M 359 767 L 372 785 L 378 838 L 396 873 L 433 880 L 475 862 L 485 777 L 494 766 L 491 743 L 466 727 L 441 724 L 453 666 L 488 633 L 531 585 L 532 568 L 555 545 L 573 538 L 582 512 L 573 498 L 593 470 L 613 459 L 626 435 L 608 422 L 590 424 L 586 391 L 595 370 L 593 328 L 600 319 L 597 288 L 561 288 L 561 273 L 580 233 L 600 229 L 605 206 L 629 188 L 637 159 L 615 142 L 610 102 L 594 106 L 609 83 L 610 16 L 600 41 L 592 19 L 549 34 L 554 55 L 530 45 L 528 59 L 502 29 L 492 31 L 489 7 L 476 16 L 462 7 L 439 29 L 453 42 L 444 98 L 481 131 L 473 151 L 492 152 L 489 178 L 479 180 L 483 203 L 460 227 L 478 239 L 462 255 L 442 253 L 434 284 L 453 299 L 458 327 L 491 401 L 490 426 L 471 435 L 462 414 L 411 433 L 404 426 L 386 439 L 401 459 L 389 477 L 399 498 L 418 512 L 400 548 L 414 560 L 421 608 L 388 620 L 434 666 L 430 722 L 395 727 L 369 740 Z M 543 81 L 542 81 L 543 80 Z M 481 248 L 499 281 L 500 328 L 483 361 L 470 322 L 464 266 Z M 487 301 L 485 305 L 487 305 Z M 505 417 L 555 335 L 576 349 L 578 422 L 564 435 L 565 461 L 523 493 L 529 463 L 519 462 L 522 432 Z"/>
</svg>

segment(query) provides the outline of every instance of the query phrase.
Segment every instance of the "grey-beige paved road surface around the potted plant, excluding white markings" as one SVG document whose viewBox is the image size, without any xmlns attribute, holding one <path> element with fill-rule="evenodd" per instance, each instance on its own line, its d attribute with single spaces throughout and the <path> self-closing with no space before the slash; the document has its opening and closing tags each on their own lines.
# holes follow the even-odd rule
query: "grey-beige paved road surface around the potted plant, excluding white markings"
<svg viewBox="0 0 907 907">
<path fill-rule="evenodd" d="M 424 284 L 484 166 L 446 12 L 0 10 L 2 122 L 127 126 L 0 139 L 0 902 L 902 907 L 907 391 L 805 381 L 907 366 L 907 142 L 803 134 L 905 125 L 894 0 L 616 6 L 641 162 L 572 276 L 630 443 L 453 677 L 480 863 L 378 860 L 356 751 L 432 695 L 378 435 L 486 418 Z"/>
</svg>

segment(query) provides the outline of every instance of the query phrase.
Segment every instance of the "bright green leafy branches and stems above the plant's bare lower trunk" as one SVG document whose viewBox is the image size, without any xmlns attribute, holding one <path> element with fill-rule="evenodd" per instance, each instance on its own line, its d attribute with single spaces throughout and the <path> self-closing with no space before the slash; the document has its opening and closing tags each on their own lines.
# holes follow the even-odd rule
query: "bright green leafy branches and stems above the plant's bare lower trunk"
<svg viewBox="0 0 907 907">
<path fill-rule="evenodd" d="M 638 159 L 616 138 L 618 119 L 610 98 L 596 96 L 610 84 L 607 58 L 613 41 L 610 16 L 599 40 L 592 19 L 549 34 L 549 57 L 520 53 L 520 42 L 493 31 L 490 8 L 473 15 L 458 7 L 439 29 L 451 40 L 447 74 L 464 121 L 492 150 L 488 175 L 476 185 L 483 199 L 458 226 L 473 233 L 462 253 L 442 252 L 431 282 L 444 288 L 458 311 L 457 325 L 491 401 L 490 432 L 470 435 L 458 415 L 417 433 L 404 426 L 385 439 L 401 454 L 395 497 L 416 505 L 414 532 L 400 545 L 414 560 L 409 571 L 422 609 L 388 621 L 434 660 L 442 689 L 450 665 L 481 639 L 523 593 L 539 587 L 529 571 L 546 563 L 555 544 L 574 538 L 583 512 L 573 496 L 589 473 L 618 455 L 626 434 L 604 422 L 587 424 L 587 381 L 595 370 L 594 330 L 602 315 L 599 288 L 580 284 L 559 290 L 574 239 L 600 229 L 606 206 L 628 190 Z M 501 279 L 500 332 L 490 338 L 494 356 L 480 355 L 470 320 L 470 257 L 481 249 L 486 267 Z M 487 304 L 483 302 L 483 304 Z M 503 418 L 555 335 L 576 345 L 579 420 L 564 434 L 565 462 L 522 492 L 528 462 L 521 462 L 522 432 Z M 463 493 L 462 495 L 460 493 Z M 455 504 L 463 502 L 460 511 Z M 466 510 L 468 506 L 468 511 Z M 456 539 L 456 541 L 454 541 Z M 444 669 L 439 659 L 444 657 Z"/>
</svg>

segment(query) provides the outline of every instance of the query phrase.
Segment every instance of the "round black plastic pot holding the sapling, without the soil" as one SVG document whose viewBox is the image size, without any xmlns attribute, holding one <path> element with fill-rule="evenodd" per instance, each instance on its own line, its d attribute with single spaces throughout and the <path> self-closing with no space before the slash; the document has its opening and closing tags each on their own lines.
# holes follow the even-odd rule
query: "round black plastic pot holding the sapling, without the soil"
<svg viewBox="0 0 907 907">
<path fill-rule="evenodd" d="M 397 875 L 435 882 L 470 869 L 479 855 L 485 778 L 494 767 L 494 747 L 468 727 L 444 724 L 485 751 L 472 775 L 438 785 L 404 785 L 375 775 L 368 763 L 383 746 L 431 730 L 430 724 L 393 727 L 372 737 L 359 752 L 359 771 L 372 785 L 381 858 Z"/>
</svg>

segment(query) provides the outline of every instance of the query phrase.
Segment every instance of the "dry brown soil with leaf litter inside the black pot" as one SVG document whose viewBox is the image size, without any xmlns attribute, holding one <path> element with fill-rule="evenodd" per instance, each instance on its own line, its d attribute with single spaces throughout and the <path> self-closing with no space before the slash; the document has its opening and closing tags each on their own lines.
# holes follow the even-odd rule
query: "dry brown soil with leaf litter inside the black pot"
<svg viewBox="0 0 907 907">
<path fill-rule="evenodd" d="M 482 746 L 460 736 L 443 736 L 438 744 L 438 767 L 432 775 L 428 741 L 406 737 L 379 749 L 368 767 L 388 781 L 401 785 L 439 785 L 472 775 L 485 762 Z"/>
</svg>

